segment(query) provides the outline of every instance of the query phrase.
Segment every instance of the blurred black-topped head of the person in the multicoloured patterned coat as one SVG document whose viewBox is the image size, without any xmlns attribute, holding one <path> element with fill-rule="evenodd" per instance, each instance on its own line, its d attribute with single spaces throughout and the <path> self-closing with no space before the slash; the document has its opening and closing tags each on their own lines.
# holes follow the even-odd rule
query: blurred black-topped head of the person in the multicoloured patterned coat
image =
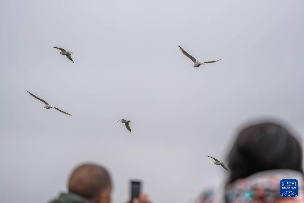
<svg viewBox="0 0 304 203">
<path fill-rule="evenodd" d="M 299 142 L 282 126 L 254 124 L 240 131 L 229 155 L 232 183 L 239 178 L 272 169 L 302 170 Z"/>
</svg>

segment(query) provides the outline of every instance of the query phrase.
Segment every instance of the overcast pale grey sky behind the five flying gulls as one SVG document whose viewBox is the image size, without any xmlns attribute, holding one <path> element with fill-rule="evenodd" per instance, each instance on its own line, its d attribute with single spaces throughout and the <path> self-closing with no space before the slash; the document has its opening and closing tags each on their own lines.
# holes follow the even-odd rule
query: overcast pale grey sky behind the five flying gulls
<svg viewBox="0 0 304 203">
<path fill-rule="evenodd" d="M 228 175 L 206 155 L 224 161 L 247 119 L 277 117 L 302 134 L 303 6 L 0 2 L 1 200 L 49 201 L 92 161 L 110 170 L 113 203 L 126 202 L 130 178 L 155 203 L 185 203 Z M 222 60 L 192 68 L 178 45 L 199 61 Z M 122 118 L 132 134 L 115 123 Z"/>
</svg>

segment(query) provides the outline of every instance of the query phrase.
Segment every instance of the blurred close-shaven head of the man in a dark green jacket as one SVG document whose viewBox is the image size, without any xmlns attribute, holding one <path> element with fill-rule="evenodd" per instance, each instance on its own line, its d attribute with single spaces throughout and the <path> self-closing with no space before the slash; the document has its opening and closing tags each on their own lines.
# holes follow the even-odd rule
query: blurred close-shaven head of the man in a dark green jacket
<svg viewBox="0 0 304 203">
<path fill-rule="evenodd" d="M 102 166 L 95 164 L 78 166 L 71 174 L 68 189 L 90 203 L 111 202 L 111 178 Z"/>
</svg>

